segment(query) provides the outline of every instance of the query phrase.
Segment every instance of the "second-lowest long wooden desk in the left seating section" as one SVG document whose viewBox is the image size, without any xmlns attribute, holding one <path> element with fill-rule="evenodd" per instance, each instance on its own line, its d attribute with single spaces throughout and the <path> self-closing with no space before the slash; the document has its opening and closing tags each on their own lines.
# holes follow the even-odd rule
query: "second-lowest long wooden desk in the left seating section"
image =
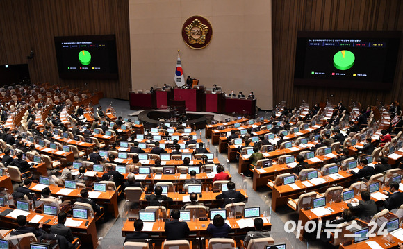
<svg viewBox="0 0 403 249">
<path fill-rule="evenodd" d="M 40 193 L 41 191 L 33 189 L 36 186 L 36 183 L 32 183 L 29 189 Z M 76 198 L 81 198 L 80 191 L 81 189 L 73 189 L 72 192 L 68 195 L 58 194 L 60 189 L 63 187 L 58 187 L 56 185 L 49 185 L 49 189 L 51 190 L 52 196 L 63 196 L 63 198 L 76 200 Z M 119 215 L 119 210 L 117 209 L 117 191 L 107 190 L 105 192 L 101 192 L 101 194 L 97 198 L 92 198 L 99 205 L 106 205 L 105 212 L 111 213 L 114 218 Z"/>
</svg>

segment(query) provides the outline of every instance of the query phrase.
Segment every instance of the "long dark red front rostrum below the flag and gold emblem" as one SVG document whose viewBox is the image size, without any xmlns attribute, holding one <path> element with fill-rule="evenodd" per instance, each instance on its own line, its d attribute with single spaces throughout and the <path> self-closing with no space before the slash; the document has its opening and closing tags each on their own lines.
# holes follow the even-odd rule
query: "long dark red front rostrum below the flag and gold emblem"
<svg viewBox="0 0 403 249">
<path fill-rule="evenodd" d="M 225 98 L 224 94 L 208 94 L 203 89 L 180 89 L 156 91 L 154 94 L 129 93 L 131 110 L 147 110 L 170 106 L 171 100 L 186 101 L 192 112 L 240 113 L 254 117 L 256 99 Z"/>
</svg>

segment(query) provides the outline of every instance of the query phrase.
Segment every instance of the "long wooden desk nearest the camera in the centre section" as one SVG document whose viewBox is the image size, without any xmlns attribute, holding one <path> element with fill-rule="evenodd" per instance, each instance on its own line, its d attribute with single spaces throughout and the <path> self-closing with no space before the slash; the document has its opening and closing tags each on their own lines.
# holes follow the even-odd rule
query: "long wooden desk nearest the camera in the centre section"
<svg viewBox="0 0 403 249">
<path fill-rule="evenodd" d="M 261 215 L 263 217 L 263 215 Z M 252 227 L 245 227 L 245 228 L 240 228 L 238 223 L 236 222 L 236 218 L 228 218 L 229 224 L 232 228 L 232 232 L 236 235 L 240 234 L 246 234 L 249 230 L 251 230 Z M 265 221 L 266 219 L 263 219 Z M 207 219 L 207 221 L 199 221 L 199 218 L 196 219 L 196 221 L 188 221 L 188 227 L 190 230 L 190 235 L 189 237 L 211 237 L 211 234 L 208 234 L 206 232 L 208 224 L 210 224 L 210 220 Z M 163 221 L 156 221 L 154 222 L 152 231 L 142 231 L 142 232 L 147 232 L 148 234 L 151 235 L 151 237 L 163 237 L 165 238 L 165 222 Z M 253 228 L 252 228 L 253 229 Z M 272 224 L 265 222 L 263 223 L 263 230 L 271 230 L 272 229 Z M 122 228 L 122 235 L 126 236 L 126 234 L 134 232 L 134 221 L 129 221 L 127 220 Z"/>
</svg>

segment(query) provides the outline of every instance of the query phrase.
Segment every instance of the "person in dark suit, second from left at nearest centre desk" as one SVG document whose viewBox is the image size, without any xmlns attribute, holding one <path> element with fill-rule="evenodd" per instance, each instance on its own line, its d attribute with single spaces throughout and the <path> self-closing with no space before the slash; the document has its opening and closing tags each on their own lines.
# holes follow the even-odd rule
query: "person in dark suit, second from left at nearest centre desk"
<svg viewBox="0 0 403 249">
<path fill-rule="evenodd" d="M 164 230 L 167 239 L 186 239 L 188 237 L 190 231 L 188 223 L 179 221 L 180 217 L 179 209 L 173 209 L 171 212 L 172 220 L 165 222 Z"/>
</svg>

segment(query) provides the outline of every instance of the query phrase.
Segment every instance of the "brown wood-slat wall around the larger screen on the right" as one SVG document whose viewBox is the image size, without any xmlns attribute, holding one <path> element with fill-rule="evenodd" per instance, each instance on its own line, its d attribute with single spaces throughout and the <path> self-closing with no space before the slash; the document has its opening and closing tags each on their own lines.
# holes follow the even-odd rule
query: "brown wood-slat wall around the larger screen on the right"
<svg viewBox="0 0 403 249">
<path fill-rule="evenodd" d="M 272 0 L 274 103 L 310 105 L 327 99 L 349 105 L 359 101 L 375 105 L 403 102 L 403 38 L 397 58 L 393 89 L 340 89 L 293 85 L 297 31 L 402 31 L 403 2 L 400 0 Z M 334 94 L 334 97 L 330 95 Z"/>
</svg>

